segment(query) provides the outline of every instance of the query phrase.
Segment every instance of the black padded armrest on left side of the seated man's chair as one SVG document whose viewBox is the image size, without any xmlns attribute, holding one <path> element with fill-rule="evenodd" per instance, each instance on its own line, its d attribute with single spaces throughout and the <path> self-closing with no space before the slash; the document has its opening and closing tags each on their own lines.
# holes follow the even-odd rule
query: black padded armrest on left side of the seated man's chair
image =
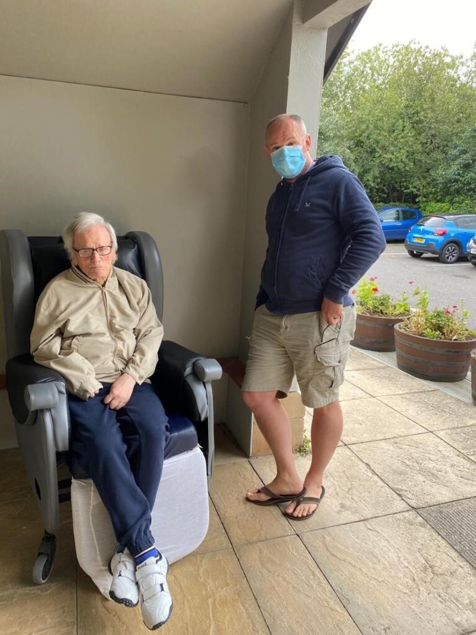
<svg viewBox="0 0 476 635">
<path fill-rule="evenodd" d="M 19 424 L 27 420 L 30 410 L 51 408 L 57 405 L 57 403 L 55 406 L 47 405 L 53 403 L 55 391 L 56 394 L 58 392 L 56 387 L 48 385 L 45 385 L 44 388 L 41 387 L 41 384 L 50 384 L 51 382 L 61 382 L 66 390 L 66 382 L 62 375 L 40 366 L 31 355 L 18 355 L 7 361 L 6 389 L 13 416 Z M 38 384 L 38 387 L 32 387 L 32 390 L 28 391 L 30 384 Z M 30 408 L 30 406 L 32 407 Z"/>
</svg>

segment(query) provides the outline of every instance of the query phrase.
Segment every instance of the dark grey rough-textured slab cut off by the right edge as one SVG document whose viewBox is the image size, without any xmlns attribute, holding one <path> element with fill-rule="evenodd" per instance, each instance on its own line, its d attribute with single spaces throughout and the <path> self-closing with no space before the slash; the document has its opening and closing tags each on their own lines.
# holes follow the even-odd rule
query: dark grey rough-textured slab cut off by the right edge
<svg viewBox="0 0 476 635">
<path fill-rule="evenodd" d="M 476 498 L 424 507 L 418 513 L 476 567 Z"/>
</svg>

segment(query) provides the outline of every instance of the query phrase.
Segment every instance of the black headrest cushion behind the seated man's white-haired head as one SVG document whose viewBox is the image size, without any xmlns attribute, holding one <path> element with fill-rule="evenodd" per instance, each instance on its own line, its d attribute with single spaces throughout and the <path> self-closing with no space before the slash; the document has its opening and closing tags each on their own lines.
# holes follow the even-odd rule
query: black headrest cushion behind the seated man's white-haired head
<svg viewBox="0 0 476 635">
<path fill-rule="evenodd" d="M 37 302 L 46 284 L 62 271 L 69 269 L 70 262 L 60 237 L 29 236 L 28 240 Z M 135 276 L 144 277 L 138 244 L 131 238 L 117 236 L 117 262 L 114 266 L 125 269 Z"/>
</svg>

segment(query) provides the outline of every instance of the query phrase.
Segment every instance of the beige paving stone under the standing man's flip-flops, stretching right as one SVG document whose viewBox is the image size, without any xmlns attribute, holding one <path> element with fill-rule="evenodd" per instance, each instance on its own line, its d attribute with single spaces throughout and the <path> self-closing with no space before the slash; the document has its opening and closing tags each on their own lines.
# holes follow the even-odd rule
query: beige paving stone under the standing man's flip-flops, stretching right
<svg viewBox="0 0 476 635">
<path fill-rule="evenodd" d="M 304 479 L 311 457 L 296 457 L 298 474 Z M 275 476 L 272 457 L 251 460 L 265 483 Z M 348 448 L 337 448 L 324 474 L 326 495 L 319 509 L 306 521 L 289 521 L 301 533 L 332 525 L 343 525 L 374 516 L 384 516 L 409 509 L 408 505 L 382 483 Z M 284 509 L 286 504 L 281 505 Z"/>
</svg>

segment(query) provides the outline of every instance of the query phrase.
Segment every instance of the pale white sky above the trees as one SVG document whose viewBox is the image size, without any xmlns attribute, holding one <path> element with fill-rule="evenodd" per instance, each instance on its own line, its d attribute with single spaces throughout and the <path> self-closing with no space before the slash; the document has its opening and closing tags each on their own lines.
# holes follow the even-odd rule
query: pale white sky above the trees
<svg viewBox="0 0 476 635">
<path fill-rule="evenodd" d="M 350 51 L 416 40 L 469 57 L 476 41 L 476 0 L 373 0 L 350 40 Z"/>
</svg>

